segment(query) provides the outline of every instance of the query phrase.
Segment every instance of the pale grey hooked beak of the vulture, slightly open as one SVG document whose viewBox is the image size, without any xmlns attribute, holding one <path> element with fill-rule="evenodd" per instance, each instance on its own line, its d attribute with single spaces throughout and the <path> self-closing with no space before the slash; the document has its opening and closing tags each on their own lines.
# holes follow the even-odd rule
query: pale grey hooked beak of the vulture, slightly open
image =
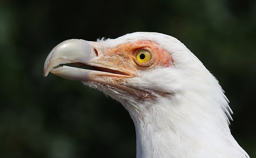
<svg viewBox="0 0 256 158">
<path fill-rule="evenodd" d="M 113 82 L 107 80 L 111 78 L 127 78 L 131 75 L 122 72 L 120 69 L 111 66 L 104 56 L 98 54 L 103 52 L 100 44 L 97 42 L 86 41 L 82 39 L 69 39 L 55 46 L 47 56 L 43 75 L 47 76 L 49 72 L 70 80 L 95 81 L 109 84 Z M 103 54 L 103 53 L 102 53 Z M 79 66 L 90 66 L 96 70 L 88 70 L 77 67 L 61 66 L 62 64 L 77 63 Z"/>
</svg>

